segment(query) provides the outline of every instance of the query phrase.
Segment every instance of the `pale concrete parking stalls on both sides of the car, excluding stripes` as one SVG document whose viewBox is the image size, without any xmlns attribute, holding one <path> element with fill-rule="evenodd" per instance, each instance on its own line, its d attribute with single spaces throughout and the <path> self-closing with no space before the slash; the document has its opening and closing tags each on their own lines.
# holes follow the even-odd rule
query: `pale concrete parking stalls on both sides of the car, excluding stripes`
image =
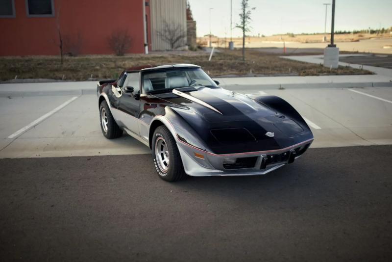
<svg viewBox="0 0 392 262">
<path fill-rule="evenodd" d="M 321 128 L 311 128 L 315 135 L 314 148 L 392 144 L 390 103 L 338 88 L 278 90 L 239 85 L 231 90 L 264 91 L 287 100 L 303 117 Z M 357 90 L 384 98 L 392 96 L 392 88 Z M 3 138 L 0 158 L 150 154 L 149 148 L 126 134 L 114 140 L 104 138 L 99 127 L 96 95 L 82 95 L 14 141 L 6 139 L 68 99 L 70 96 L 0 98 L 0 120 L 6 123 L 0 126 L 0 138 Z"/>
</svg>

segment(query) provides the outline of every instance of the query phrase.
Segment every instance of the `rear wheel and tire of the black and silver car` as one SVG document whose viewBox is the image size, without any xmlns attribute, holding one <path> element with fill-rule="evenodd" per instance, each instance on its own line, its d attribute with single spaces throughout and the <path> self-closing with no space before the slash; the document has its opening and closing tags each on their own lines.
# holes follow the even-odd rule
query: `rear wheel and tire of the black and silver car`
<svg viewBox="0 0 392 262">
<path fill-rule="evenodd" d="M 123 131 L 114 120 L 112 112 L 110 112 L 109 106 L 105 100 L 99 105 L 99 123 L 102 134 L 107 139 L 118 138 L 123 135 Z"/>
</svg>

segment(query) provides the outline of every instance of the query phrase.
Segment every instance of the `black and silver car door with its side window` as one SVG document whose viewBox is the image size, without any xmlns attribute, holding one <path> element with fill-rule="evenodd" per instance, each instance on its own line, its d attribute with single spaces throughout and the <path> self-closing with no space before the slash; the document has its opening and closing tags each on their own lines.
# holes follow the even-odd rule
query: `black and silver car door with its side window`
<svg viewBox="0 0 392 262">
<path fill-rule="evenodd" d="M 139 132 L 139 104 L 140 104 L 140 73 L 125 73 L 125 80 L 120 86 L 122 96 L 118 109 L 127 116 L 123 119 L 126 129 L 140 135 Z"/>
</svg>

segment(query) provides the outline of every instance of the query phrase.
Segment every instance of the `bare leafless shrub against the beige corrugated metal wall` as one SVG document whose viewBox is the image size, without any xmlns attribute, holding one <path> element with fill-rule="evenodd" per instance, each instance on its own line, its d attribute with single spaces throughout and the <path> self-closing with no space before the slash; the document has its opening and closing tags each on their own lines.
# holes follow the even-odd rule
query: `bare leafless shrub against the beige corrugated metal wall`
<svg viewBox="0 0 392 262">
<path fill-rule="evenodd" d="M 156 34 L 170 45 L 171 50 L 177 49 L 184 45 L 187 34 L 180 24 L 168 23 L 163 21 L 163 29 Z"/>
</svg>

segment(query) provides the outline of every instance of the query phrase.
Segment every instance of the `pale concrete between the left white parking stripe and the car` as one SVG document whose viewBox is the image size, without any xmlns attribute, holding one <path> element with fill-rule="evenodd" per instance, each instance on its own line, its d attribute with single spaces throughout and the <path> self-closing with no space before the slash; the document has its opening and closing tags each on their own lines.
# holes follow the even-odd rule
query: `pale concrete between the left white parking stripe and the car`
<svg viewBox="0 0 392 262">
<path fill-rule="evenodd" d="M 42 99 L 45 100 L 48 97 Z M 58 100 L 57 102 L 61 103 Z M 11 122 L 11 119 L 9 121 Z M 4 143 L 6 142 L 9 143 L 10 139 L 5 139 Z M 149 148 L 126 134 L 118 139 L 106 139 L 99 126 L 97 96 L 83 95 L 22 134 L 7 148 L 0 151 L 0 158 L 149 153 Z"/>
</svg>

